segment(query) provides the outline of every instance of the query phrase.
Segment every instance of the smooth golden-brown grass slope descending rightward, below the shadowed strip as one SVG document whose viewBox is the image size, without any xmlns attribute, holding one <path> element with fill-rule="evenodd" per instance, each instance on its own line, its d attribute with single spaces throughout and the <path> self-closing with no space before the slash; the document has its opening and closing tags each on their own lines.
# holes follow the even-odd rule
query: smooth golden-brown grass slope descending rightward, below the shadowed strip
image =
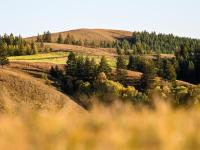
<svg viewBox="0 0 200 150">
<path fill-rule="evenodd" d="M 0 101 L 26 102 L 39 108 L 59 108 L 67 104 L 67 107 L 81 110 L 68 96 L 42 80 L 12 67 L 0 69 Z"/>
</svg>

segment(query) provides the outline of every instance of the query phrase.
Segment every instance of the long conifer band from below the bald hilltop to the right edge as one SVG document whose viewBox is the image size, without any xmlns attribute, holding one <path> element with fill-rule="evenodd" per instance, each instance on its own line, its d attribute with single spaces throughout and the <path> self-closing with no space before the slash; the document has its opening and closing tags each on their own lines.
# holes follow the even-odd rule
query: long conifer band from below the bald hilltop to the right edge
<svg viewBox="0 0 200 150">
<path fill-rule="evenodd" d="M 37 36 L 37 42 L 51 43 L 51 33 L 44 32 Z M 75 39 L 72 34 L 66 37 L 60 33 L 56 40 L 59 44 L 71 44 L 95 48 L 116 48 L 118 54 L 174 54 L 180 50 L 181 45 L 187 44 L 191 50 L 200 45 L 200 40 L 178 37 L 173 34 L 156 34 L 155 32 L 133 32 L 132 37 L 116 41 L 88 41 L 87 39 Z"/>
</svg>

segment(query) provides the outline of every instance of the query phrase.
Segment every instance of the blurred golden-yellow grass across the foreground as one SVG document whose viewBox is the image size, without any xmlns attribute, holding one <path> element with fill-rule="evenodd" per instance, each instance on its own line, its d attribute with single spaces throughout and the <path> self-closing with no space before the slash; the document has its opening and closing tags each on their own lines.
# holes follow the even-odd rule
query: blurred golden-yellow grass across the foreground
<svg viewBox="0 0 200 150">
<path fill-rule="evenodd" d="M 155 110 L 117 104 L 109 108 L 96 105 L 89 112 L 70 106 L 59 111 L 10 106 L 0 115 L 2 150 L 200 148 L 198 108 L 174 110 L 162 102 Z"/>
</svg>

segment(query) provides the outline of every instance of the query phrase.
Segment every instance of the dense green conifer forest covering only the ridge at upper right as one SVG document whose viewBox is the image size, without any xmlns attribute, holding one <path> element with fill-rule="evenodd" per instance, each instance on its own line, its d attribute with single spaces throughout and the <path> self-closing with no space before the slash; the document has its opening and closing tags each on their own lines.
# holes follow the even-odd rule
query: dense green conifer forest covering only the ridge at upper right
<svg viewBox="0 0 200 150">
<path fill-rule="evenodd" d="M 136 46 L 137 51 L 141 53 L 145 52 L 156 52 L 165 54 L 174 54 L 179 51 L 183 44 L 189 46 L 189 49 L 194 50 L 200 45 L 200 40 L 178 37 L 173 34 L 156 34 L 155 32 L 134 32 L 132 43 Z M 140 49 L 142 51 L 140 51 Z"/>
</svg>

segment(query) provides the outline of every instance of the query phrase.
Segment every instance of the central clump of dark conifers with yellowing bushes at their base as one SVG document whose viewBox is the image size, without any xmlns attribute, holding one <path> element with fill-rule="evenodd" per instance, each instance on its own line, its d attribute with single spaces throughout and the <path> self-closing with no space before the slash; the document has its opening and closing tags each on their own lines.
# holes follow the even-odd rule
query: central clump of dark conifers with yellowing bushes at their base
<svg viewBox="0 0 200 150">
<path fill-rule="evenodd" d="M 133 103 L 137 101 L 148 103 L 144 93 L 139 92 L 133 86 L 125 87 L 122 83 L 117 82 L 118 79 L 122 81 L 126 75 L 126 72 L 121 70 L 126 67 L 123 59 L 124 57 L 120 56 L 117 61 L 117 79 L 114 78 L 117 75 L 109 66 L 105 56 L 97 63 L 93 58 L 77 56 L 74 53 L 69 54 L 64 70 L 58 66 L 52 67 L 50 75 L 69 95 L 83 94 L 87 96 L 87 99 L 95 96 L 105 104 L 110 104 L 118 98 L 125 101 L 131 100 Z M 78 97 L 78 99 L 81 100 L 82 97 Z"/>
</svg>

